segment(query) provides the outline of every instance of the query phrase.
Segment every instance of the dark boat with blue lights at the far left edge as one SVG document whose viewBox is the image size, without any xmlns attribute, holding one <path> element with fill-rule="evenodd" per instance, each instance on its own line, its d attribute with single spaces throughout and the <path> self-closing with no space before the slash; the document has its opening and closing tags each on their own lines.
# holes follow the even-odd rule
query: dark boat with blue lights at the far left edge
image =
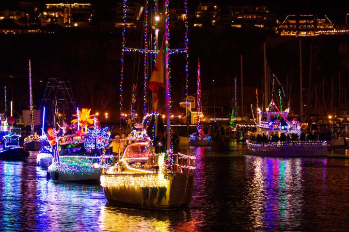
<svg viewBox="0 0 349 232">
<path fill-rule="evenodd" d="M 19 146 L 21 136 L 12 131 L 0 131 L 0 160 L 25 160 L 29 152 Z"/>
</svg>

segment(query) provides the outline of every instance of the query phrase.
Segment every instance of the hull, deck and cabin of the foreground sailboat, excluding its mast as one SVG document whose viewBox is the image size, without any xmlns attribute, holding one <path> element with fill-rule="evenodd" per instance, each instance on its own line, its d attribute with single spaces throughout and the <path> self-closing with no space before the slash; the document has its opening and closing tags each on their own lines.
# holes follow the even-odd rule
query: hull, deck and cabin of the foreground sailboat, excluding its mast
<svg viewBox="0 0 349 232">
<path fill-rule="evenodd" d="M 188 205 L 194 186 L 195 157 L 155 154 L 145 130 L 132 131 L 127 142 L 119 161 L 101 175 L 108 201 L 159 210 Z"/>
</svg>

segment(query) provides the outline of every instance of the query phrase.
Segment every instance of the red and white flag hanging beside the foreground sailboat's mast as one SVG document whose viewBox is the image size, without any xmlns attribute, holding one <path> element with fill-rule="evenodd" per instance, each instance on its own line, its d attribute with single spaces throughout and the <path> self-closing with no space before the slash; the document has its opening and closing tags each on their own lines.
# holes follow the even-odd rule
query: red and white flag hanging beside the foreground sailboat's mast
<svg viewBox="0 0 349 232">
<path fill-rule="evenodd" d="M 159 88 L 163 87 L 163 49 L 158 52 L 155 67 L 149 81 L 149 89 L 153 92 L 153 108 L 157 112 L 159 105 Z"/>
</svg>

